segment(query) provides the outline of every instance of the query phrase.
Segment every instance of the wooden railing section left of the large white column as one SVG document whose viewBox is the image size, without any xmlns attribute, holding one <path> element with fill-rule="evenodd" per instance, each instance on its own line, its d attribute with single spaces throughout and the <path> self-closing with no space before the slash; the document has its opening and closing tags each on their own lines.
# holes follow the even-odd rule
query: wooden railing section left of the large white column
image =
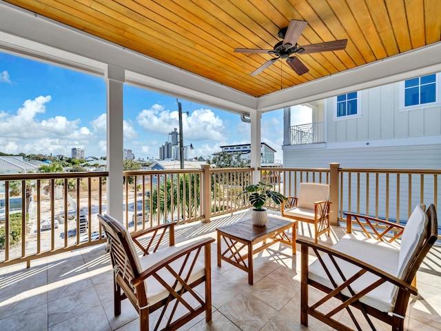
<svg viewBox="0 0 441 331">
<path fill-rule="evenodd" d="M 105 208 L 107 175 L 0 174 L 0 266 L 29 266 L 32 259 L 102 242 L 96 214 Z M 21 208 L 10 208 L 11 201 Z"/>
</svg>

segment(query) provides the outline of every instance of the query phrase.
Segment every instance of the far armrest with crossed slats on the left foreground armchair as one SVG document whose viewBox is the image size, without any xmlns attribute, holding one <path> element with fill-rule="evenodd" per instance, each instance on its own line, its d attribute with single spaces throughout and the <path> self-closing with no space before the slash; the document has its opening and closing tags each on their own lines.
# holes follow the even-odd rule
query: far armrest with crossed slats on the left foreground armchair
<svg viewBox="0 0 441 331">
<path fill-rule="evenodd" d="M 174 222 L 161 224 L 154 226 L 153 228 L 136 231 L 130 234 L 130 236 L 132 237 L 134 243 L 136 243 L 136 245 L 141 248 L 143 254 L 147 255 L 158 250 L 162 240 L 164 238 L 167 238 L 167 236 L 165 236 L 167 230 L 169 230 L 170 232 L 168 236 L 169 245 L 174 246 L 174 225 L 176 225 L 176 223 Z M 152 233 L 152 237 L 150 237 L 150 239 L 145 238 L 146 242 L 144 244 L 139 241 L 139 238 L 144 237 L 146 234 L 150 233 Z M 152 251 L 150 251 L 151 248 L 153 248 Z"/>
</svg>

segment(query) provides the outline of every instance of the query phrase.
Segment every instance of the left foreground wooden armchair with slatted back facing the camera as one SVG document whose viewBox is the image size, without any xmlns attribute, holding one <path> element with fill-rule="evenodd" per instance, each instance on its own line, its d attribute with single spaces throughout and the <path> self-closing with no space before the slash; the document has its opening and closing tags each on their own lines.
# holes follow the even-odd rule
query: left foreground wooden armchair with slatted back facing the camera
<svg viewBox="0 0 441 331">
<path fill-rule="evenodd" d="M 154 330 L 176 330 L 204 311 L 205 321 L 212 319 L 210 246 L 214 239 L 177 248 L 175 223 L 131 235 L 113 217 L 98 217 L 114 268 L 115 316 L 121 314 L 121 301 L 129 299 L 139 312 L 140 330 L 149 330 L 149 314 L 158 309 L 162 310 Z M 163 247 L 163 241 L 168 245 Z M 205 295 L 201 296 L 194 288 L 204 282 Z"/>
</svg>

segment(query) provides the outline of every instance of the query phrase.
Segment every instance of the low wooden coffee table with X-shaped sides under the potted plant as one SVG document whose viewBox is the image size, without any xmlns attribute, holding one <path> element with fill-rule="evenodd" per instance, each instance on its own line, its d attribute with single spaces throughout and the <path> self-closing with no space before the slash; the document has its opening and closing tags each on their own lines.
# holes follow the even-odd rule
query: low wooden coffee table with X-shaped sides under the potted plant
<svg viewBox="0 0 441 331">
<path fill-rule="evenodd" d="M 287 230 L 292 229 L 292 237 Z M 218 266 L 222 260 L 248 272 L 248 283 L 253 285 L 253 255 L 274 243 L 287 243 L 296 254 L 297 222 L 268 216 L 267 225 L 253 225 L 251 219 L 216 228 L 218 235 Z M 263 245 L 254 249 L 254 244 Z M 269 242 L 267 242 L 269 241 Z M 222 242 L 227 248 L 222 250 Z M 247 248 L 247 254 L 241 254 Z"/>
</svg>

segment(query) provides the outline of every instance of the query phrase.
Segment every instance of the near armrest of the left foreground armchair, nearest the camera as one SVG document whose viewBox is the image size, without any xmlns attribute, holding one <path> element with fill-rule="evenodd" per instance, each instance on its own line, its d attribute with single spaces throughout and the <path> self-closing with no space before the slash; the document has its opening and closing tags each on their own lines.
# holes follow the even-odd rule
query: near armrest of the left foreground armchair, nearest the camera
<svg viewBox="0 0 441 331">
<path fill-rule="evenodd" d="M 178 252 L 171 254 L 170 256 L 159 261 L 158 263 L 155 263 L 150 268 L 147 268 L 146 270 L 141 272 L 141 274 L 139 274 L 138 277 L 135 277 L 131 280 L 132 285 L 134 285 L 134 287 L 136 287 L 136 286 L 140 285 L 145 279 L 147 279 L 147 277 L 150 277 L 150 276 L 154 276 L 156 278 L 160 277 L 157 275 L 159 270 L 161 270 L 163 268 L 170 267 L 170 263 L 172 263 L 173 261 L 176 261 L 177 259 L 179 259 L 180 257 L 183 257 L 185 255 L 189 256 L 189 254 L 191 254 L 193 251 L 197 251 L 196 256 L 193 259 L 191 259 L 192 261 L 189 261 L 190 259 L 185 259 L 186 263 L 190 263 L 190 264 L 194 265 L 194 263 L 196 262 L 196 259 L 198 257 L 198 254 L 203 247 L 205 247 L 205 250 L 208 249 L 208 254 L 211 254 L 209 251 L 210 244 L 213 243 L 214 241 L 215 241 L 215 239 L 213 239 L 213 238 L 205 238 L 205 239 L 198 240 L 190 245 L 183 247 L 181 250 L 178 250 Z M 205 261 L 205 265 L 207 265 L 207 261 Z M 182 268 L 182 269 L 184 269 L 184 268 Z"/>
</svg>

